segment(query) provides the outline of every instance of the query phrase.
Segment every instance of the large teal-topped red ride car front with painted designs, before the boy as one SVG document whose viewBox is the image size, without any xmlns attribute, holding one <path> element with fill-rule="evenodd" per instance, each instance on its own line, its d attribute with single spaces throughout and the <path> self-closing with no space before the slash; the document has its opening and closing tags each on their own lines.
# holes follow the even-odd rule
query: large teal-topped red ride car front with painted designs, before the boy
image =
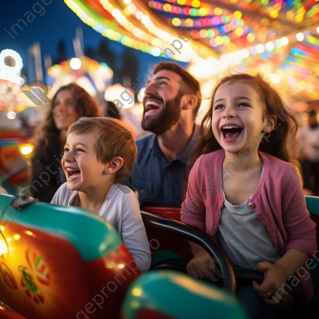
<svg viewBox="0 0 319 319">
<path fill-rule="evenodd" d="M 117 319 L 140 272 L 114 227 L 77 207 L 14 198 L 0 195 L 0 318 L 11 308 L 26 319 Z"/>
</svg>

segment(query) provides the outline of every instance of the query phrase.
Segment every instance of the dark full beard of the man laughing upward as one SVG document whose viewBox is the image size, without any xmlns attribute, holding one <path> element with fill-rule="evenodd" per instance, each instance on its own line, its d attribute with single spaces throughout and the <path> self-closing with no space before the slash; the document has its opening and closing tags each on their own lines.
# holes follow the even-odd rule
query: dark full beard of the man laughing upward
<svg viewBox="0 0 319 319">
<path fill-rule="evenodd" d="M 156 116 L 150 116 L 145 118 L 146 109 L 144 107 L 143 119 L 142 119 L 142 129 L 145 131 L 151 131 L 156 135 L 162 135 L 167 130 L 169 130 L 174 124 L 176 124 L 181 115 L 181 99 L 183 93 L 178 92 L 174 99 L 168 100 L 159 114 Z"/>
</svg>

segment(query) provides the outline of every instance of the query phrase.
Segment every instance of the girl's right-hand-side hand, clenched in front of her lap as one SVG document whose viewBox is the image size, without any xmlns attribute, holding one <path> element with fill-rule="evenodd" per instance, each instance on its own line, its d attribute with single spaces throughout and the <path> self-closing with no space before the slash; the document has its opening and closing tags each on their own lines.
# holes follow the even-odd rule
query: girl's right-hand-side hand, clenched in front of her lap
<svg viewBox="0 0 319 319">
<path fill-rule="evenodd" d="M 278 263 L 262 261 L 258 263 L 258 270 L 264 272 L 265 279 L 260 285 L 254 280 L 254 289 L 263 297 L 266 303 L 270 305 L 277 305 L 284 295 L 285 286 L 283 286 L 283 284 L 285 284 L 288 280 L 284 267 Z M 280 290 L 278 291 L 278 289 Z M 273 297 L 271 297 L 271 295 L 273 295 Z M 273 298 L 275 298 L 278 302 Z"/>
</svg>

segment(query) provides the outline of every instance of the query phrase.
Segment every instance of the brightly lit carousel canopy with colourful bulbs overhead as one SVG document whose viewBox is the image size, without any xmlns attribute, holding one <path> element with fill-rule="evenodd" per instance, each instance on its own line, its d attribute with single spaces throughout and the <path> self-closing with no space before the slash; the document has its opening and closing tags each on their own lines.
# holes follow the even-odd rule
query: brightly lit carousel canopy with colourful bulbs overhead
<svg viewBox="0 0 319 319">
<path fill-rule="evenodd" d="M 262 71 L 297 112 L 319 100 L 316 0 L 64 2 L 97 32 L 153 55 L 154 62 L 188 62 L 205 97 L 225 72 Z M 201 111 L 206 107 L 204 100 Z"/>
</svg>

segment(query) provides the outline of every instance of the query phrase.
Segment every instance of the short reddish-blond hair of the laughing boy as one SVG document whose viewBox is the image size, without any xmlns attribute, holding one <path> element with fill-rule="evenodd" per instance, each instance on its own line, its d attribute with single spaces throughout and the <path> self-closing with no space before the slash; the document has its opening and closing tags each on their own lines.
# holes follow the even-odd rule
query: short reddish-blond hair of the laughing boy
<svg viewBox="0 0 319 319">
<path fill-rule="evenodd" d="M 71 124 L 66 136 L 70 133 L 80 135 L 93 133 L 95 151 L 100 163 L 105 164 L 114 157 L 124 160 L 121 169 L 116 172 L 116 183 L 121 183 L 130 176 L 137 155 L 137 146 L 132 133 L 127 130 L 121 121 L 110 117 L 81 117 Z"/>
</svg>

